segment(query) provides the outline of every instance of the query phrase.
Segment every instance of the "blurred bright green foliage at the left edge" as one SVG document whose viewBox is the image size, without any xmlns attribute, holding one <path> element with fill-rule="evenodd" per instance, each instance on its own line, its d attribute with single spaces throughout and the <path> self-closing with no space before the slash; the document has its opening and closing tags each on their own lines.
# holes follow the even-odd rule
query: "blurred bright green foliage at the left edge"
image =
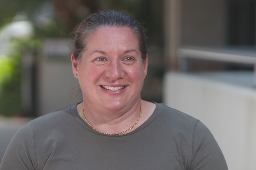
<svg viewBox="0 0 256 170">
<path fill-rule="evenodd" d="M 0 56 L 0 114 L 4 116 L 24 115 L 21 103 L 21 61 L 25 51 L 36 53 L 40 40 L 13 39 L 12 51 Z"/>
</svg>

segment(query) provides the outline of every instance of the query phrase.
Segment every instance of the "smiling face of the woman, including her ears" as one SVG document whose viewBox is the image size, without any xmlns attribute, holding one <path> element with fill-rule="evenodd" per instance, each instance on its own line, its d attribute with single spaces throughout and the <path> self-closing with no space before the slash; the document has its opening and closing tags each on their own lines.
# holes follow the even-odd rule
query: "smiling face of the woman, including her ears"
<svg viewBox="0 0 256 170">
<path fill-rule="evenodd" d="M 140 102 L 148 56 L 143 62 L 130 28 L 100 27 L 89 38 L 82 59 L 71 59 L 86 105 L 121 110 Z"/>
</svg>

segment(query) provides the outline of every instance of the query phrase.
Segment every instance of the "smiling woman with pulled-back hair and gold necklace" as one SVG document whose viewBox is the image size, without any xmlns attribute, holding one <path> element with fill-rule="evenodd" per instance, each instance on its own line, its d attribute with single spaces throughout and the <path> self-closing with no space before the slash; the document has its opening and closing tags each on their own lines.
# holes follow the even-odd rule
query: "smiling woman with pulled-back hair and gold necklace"
<svg viewBox="0 0 256 170">
<path fill-rule="evenodd" d="M 22 127 L 1 170 L 227 169 L 200 121 L 140 99 L 148 66 L 140 23 L 121 12 L 96 12 L 74 34 L 72 69 L 83 102 Z"/>
</svg>

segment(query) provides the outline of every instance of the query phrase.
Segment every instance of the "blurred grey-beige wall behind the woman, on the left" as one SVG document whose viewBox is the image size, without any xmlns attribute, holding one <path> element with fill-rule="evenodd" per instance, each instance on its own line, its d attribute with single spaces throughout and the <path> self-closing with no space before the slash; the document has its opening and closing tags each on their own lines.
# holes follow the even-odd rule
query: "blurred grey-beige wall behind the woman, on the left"
<svg viewBox="0 0 256 170">
<path fill-rule="evenodd" d="M 38 61 L 38 116 L 81 101 L 79 88 L 75 88 L 79 83 L 72 72 L 71 45 L 65 39 L 44 43 Z"/>
</svg>

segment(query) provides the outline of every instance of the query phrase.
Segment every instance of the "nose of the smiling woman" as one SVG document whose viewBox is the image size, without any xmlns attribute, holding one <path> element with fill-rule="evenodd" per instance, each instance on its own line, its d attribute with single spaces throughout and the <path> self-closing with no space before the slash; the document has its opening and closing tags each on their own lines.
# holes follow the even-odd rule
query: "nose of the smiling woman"
<svg viewBox="0 0 256 170">
<path fill-rule="evenodd" d="M 123 77 L 123 69 L 122 64 L 118 60 L 110 61 L 110 64 L 108 65 L 108 68 L 105 72 L 105 76 L 112 79 L 112 80 L 118 80 Z"/>
</svg>

